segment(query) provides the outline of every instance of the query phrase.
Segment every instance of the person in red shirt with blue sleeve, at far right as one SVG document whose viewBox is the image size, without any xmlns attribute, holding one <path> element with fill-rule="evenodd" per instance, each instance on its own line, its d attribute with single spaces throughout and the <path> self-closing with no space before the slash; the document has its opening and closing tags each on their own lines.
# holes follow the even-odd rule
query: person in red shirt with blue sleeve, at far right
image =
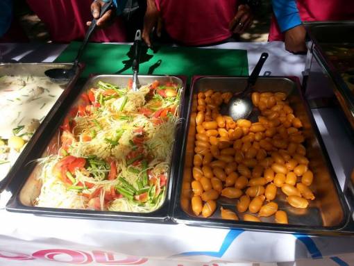
<svg viewBox="0 0 354 266">
<path fill-rule="evenodd" d="M 269 41 L 284 41 L 293 53 L 306 51 L 302 22 L 354 19 L 353 0 L 272 0 L 272 5 Z"/>
</svg>

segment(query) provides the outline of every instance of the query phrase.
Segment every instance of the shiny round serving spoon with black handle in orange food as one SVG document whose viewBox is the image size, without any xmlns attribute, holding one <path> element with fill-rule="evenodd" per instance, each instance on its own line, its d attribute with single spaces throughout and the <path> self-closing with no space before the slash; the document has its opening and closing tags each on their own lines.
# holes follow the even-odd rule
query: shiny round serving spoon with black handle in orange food
<svg viewBox="0 0 354 266">
<path fill-rule="evenodd" d="M 234 120 L 237 119 L 246 119 L 253 110 L 253 104 L 251 100 L 252 88 L 257 81 L 260 71 L 263 67 L 265 60 L 268 58 L 268 53 L 262 53 L 260 60 L 258 60 L 257 65 L 253 69 L 251 76 L 247 80 L 246 88 L 240 94 L 234 94 L 231 97 L 228 105 L 225 108 L 225 112 L 230 117 L 233 117 Z"/>
</svg>

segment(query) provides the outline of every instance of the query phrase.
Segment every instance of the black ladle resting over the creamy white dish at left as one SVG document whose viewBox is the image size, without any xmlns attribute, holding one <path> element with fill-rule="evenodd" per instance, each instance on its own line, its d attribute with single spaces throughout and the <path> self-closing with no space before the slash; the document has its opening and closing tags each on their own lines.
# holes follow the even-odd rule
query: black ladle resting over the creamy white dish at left
<svg viewBox="0 0 354 266">
<path fill-rule="evenodd" d="M 102 8 L 101 8 L 101 14 L 99 17 L 102 17 L 108 10 L 110 10 L 113 7 L 113 1 L 110 0 L 107 3 L 105 3 Z M 87 29 L 85 39 L 83 40 L 83 43 L 81 44 L 81 47 L 78 49 L 78 54 L 74 60 L 74 65 L 70 69 L 62 69 L 62 68 L 53 68 L 53 69 L 48 69 L 44 74 L 48 76 L 53 83 L 61 83 L 65 84 L 70 81 L 71 78 L 74 77 L 76 73 L 76 68 L 78 67 L 78 63 L 81 60 L 81 57 L 83 56 L 83 51 L 86 48 L 88 40 L 90 40 L 92 33 L 94 33 L 94 30 L 96 29 L 97 26 L 97 20 L 98 19 L 93 19 L 90 27 Z"/>
</svg>

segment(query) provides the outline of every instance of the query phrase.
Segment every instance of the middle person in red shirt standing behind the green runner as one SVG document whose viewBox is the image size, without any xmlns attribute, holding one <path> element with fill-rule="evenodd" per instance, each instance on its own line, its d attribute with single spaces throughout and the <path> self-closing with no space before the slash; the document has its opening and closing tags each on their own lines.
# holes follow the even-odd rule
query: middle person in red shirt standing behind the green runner
<svg viewBox="0 0 354 266">
<path fill-rule="evenodd" d="M 98 3 L 99 4 L 98 4 Z M 99 13 L 103 1 L 92 3 L 92 10 Z M 142 38 L 151 46 L 151 32 L 158 37 L 163 28 L 169 37 L 179 44 L 208 45 L 228 40 L 234 34 L 243 33 L 253 20 L 253 7 L 258 0 L 147 0 Z M 99 20 L 101 26 L 110 16 Z"/>
</svg>

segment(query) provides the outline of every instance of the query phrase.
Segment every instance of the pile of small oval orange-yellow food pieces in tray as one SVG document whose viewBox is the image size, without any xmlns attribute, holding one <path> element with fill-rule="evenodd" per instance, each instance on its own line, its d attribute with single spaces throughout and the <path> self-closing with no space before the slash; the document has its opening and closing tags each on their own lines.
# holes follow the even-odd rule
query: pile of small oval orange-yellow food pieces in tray
<svg viewBox="0 0 354 266">
<path fill-rule="evenodd" d="M 192 191 L 194 197 L 200 196 L 205 202 L 202 210 L 199 205 L 196 210 L 210 217 L 215 201 L 222 196 L 238 199 L 239 213 L 249 210 L 259 217 L 275 215 L 275 222 L 287 224 L 287 213 L 278 210 L 274 202 L 278 188 L 295 208 L 307 208 L 307 200 L 314 199 L 308 188 L 314 176 L 302 144 L 305 137 L 301 119 L 289 106 L 285 93 L 254 92 L 251 98 L 260 110 L 258 122 L 233 121 L 219 113 L 221 103 L 227 103 L 230 97 L 228 92 L 208 90 L 194 99 Z M 238 219 L 233 210 L 221 207 L 220 211 L 223 219 Z M 249 214 L 244 215 L 244 220 L 260 222 Z"/>
</svg>

